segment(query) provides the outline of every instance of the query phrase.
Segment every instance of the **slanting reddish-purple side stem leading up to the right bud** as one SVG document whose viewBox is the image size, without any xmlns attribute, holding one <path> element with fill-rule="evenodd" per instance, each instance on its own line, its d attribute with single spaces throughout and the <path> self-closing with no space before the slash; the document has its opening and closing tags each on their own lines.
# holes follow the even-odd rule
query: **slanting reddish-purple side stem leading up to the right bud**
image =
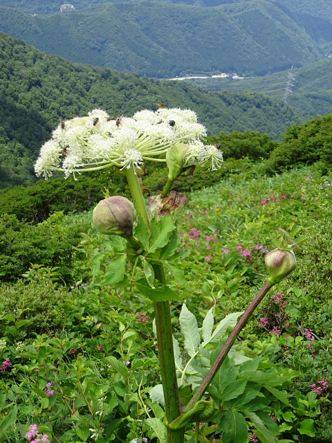
<svg viewBox="0 0 332 443">
<path fill-rule="evenodd" d="M 257 294 L 256 298 L 254 300 L 252 300 L 249 307 L 246 309 L 245 313 L 240 318 L 237 325 L 234 327 L 232 334 L 230 334 L 230 336 L 228 338 L 228 341 L 226 341 L 225 345 L 223 345 L 223 349 L 219 353 L 219 356 L 216 357 L 216 361 L 214 361 L 213 365 L 211 366 L 210 371 L 205 376 L 205 379 L 202 381 L 201 386 L 199 386 L 199 389 L 196 390 L 194 396 L 192 397 L 190 402 L 187 404 L 187 406 L 185 406 L 185 409 L 183 410 L 183 412 L 187 412 L 188 410 L 194 408 L 196 402 L 201 400 L 205 391 L 208 389 L 213 377 L 216 375 L 216 372 L 219 371 L 219 368 L 221 367 L 223 361 L 225 360 L 234 341 L 237 339 L 237 336 L 239 335 L 239 333 L 241 332 L 243 327 L 246 326 L 253 311 L 255 311 L 255 309 L 257 308 L 257 306 L 259 305 L 261 300 L 263 300 L 264 296 L 266 296 L 266 293 L 268 292 L 269 289 L 271 289 L 271 287 L 273 287 L 273 284 L 266 282 L 266 284 L 264 284 L 264 287 L 262 287 L 262 289 Z"/>
</svg>

